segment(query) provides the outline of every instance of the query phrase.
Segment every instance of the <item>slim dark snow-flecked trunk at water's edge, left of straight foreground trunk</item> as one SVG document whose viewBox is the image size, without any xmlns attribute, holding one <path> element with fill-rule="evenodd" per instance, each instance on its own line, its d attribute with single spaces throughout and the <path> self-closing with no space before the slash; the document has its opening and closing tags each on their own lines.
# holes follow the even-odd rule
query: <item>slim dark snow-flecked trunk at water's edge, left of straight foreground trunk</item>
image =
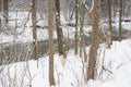
<svg viewBox="0 0 131 87">
<path fill-rule="evenodd" d="M 33 23 L 33 58 L 37 60 L 37 28 L 36 28 L 36 0 L 32 0 L 32 23 Z"/>
</svg>

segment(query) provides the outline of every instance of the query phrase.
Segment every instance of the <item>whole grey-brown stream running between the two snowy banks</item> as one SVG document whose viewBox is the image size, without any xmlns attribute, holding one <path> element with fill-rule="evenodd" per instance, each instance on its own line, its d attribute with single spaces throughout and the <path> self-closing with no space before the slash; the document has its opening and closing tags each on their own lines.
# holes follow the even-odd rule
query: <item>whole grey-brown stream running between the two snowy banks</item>
<svg viewBox="0 0 131 87">
<path fill-rule="evenodd" d="M 128 35 L 128 34 L 124 34 Z M 103 39 L 103 36 L 100 39 Z M 85 46 L 88 46 L 91 42 L 91 38 L 84 36 Z M 117 37 L 114 37 L 116 40 Z M 127 36 L 123 36 L 123 39 L 127 39 Z M 66 50 L 70 50 L 74 48 L 74 39 L 64 39 Z M 105 42 L 103 39 L 102 42 Z M 43 57 L 44 54 L 48 53 L 48 40 L 43 40 L 37 42 L 37 58 Z M 57 52 L 57 39 L 53 39 L 53 49 Z M 10 64 L 20 61 L 26 61 L 34 59 L 33 57 L 33 42 L 8 42 L 8 44 L 0 44 L 0 65 L 1 64 Z"/>
</svg>

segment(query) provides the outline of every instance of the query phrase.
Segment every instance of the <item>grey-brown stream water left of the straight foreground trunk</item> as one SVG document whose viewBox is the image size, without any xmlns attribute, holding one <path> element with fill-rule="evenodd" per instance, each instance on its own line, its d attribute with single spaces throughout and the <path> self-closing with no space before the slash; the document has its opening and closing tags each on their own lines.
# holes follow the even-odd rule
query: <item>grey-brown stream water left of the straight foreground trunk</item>
<svg viewBox="0 0 131 87">
<path fill-rule="evenodd" d="M 0 64 L 9 64 L 34 59 L 33 42 L 1 44 L 0 45 Z M 40 57 L 48 52 L 48 41 L 37 42 L 37 55 Z"/>
</svg>

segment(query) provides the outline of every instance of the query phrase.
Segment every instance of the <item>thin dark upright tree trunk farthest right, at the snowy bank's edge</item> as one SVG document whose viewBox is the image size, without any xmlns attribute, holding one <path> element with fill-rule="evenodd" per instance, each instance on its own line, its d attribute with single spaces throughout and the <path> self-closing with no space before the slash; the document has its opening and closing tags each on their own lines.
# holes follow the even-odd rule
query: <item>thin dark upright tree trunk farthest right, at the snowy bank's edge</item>
<svg viewBox="0 0 131 87">
<path fill-rule="evenodd" d="M 120 0 L 120 10 L 119 10 L 119 41 L 121 41 L 122 39 L 121 17 L 122 17 L 122 0 Z"/>
</svg>

